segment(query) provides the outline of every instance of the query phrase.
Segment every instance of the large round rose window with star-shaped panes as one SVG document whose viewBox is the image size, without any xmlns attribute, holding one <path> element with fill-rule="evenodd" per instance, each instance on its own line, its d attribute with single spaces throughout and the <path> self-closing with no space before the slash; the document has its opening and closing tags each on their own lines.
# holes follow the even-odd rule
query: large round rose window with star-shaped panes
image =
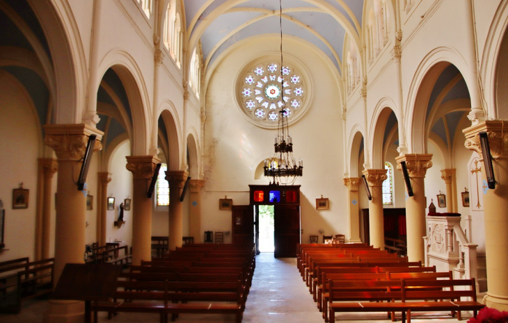
<svg viewBox="0 0 508 323">
<path fill-rule="evenodd" d="M 305 103 L 305 84 L 292 66 L 267 62 L 252 65 L 239 78 L 242 110 L 256 122 L 276 125 L 280 110 L 298 115 Z"/>
</svg>

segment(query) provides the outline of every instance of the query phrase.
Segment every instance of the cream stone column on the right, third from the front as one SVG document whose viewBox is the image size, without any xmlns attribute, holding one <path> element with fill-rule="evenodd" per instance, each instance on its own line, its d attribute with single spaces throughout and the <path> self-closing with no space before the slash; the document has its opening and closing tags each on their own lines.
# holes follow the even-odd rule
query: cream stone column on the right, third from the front
<svg viewBox="0 0 508 323">
<path fill-rule="evenodd" d="M 383 181 L 387 179 L 386 169 L 365 169 L 365 179 L 369 184 L 372 200 L 369 201 L 370 244 L 374 248 L 385 249 L 385 227 L 383 217 Z"/>
</svg>

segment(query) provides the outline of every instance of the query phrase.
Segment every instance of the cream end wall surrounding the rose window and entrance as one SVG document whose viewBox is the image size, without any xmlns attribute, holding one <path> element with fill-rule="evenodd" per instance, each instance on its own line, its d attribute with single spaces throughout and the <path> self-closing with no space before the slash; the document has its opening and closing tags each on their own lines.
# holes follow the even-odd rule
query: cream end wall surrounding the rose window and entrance
<svg viewBox="0 0 508 323">
<path fill-rule="evenodd" d="M 231 213 L 219 210 L 219 199 L 233 199 L 233 204 L 248 204 L 248 184 L 268 184 L 269 179 L 255 180 L 255 169 L 273 156 L 275 130 L 251 124 L 235 102 L 235 79 L 244 65 L 264 55 L 277 53 L 280 38 L 257 38 L 238 47 L 217 66 L 207 89 L 205 123 L 205 194 L 203 194 L 202 229 L 230 230 Z M 289 126 L 295 158 L 303 158 L 301 185 L 302 242 L 309 235 L 347 233 L 344 211 L 347 188 L 342 182 L 341 106 L 338 87 L 328 65 L 306 44 L 285 38 L 284 49 L 291 59 L 301 63 L 312 83 L 312 102 L 305 116 Z M 276 57 L 276 56 L 275 56 Z M 285 57 L 285 62 L 289 60 Z M 330 210 L 316 210 L 315 199 L 328 197 Z M 228 237 L 226 237 L 226 240 Z"/>
</svg>

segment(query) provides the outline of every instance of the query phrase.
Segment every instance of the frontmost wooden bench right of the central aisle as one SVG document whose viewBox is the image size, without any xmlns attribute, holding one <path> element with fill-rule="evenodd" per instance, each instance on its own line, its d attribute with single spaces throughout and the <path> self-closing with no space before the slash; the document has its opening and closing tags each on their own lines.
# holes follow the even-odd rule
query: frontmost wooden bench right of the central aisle
<svg viewBox="0 0 508 323">
<path fill-rule="evenodd" d="M 328 303 L 330 323 L 335 322 L 336 312 L 402 312 L 402 322 L 405 323 L 406 313 L 408 322 L 411 322 L 411 312 L 416 311 L 471 310 L 476 317 L 477 311 L 485 306 L 477 302 L 475 279 L 342 281 L 340 285 L 342 288 L 339 290 L 335 288 L 333 281 L 330 281 L 331 295 Z M 362 288 L 371 291 L 359 292 L 358 290 Z M 379 288 L 380 291 L 372 291 L 372 288 Z M 382 290 L 383 288 L 386 290 Z M 467 289 L 456 290 L 456 288 Z M 472 301 L 461 301 L 462 297 L 470 297 Z M 440 299 L 440 301 L 415 301 L 422 299 Z"/>
</svg>

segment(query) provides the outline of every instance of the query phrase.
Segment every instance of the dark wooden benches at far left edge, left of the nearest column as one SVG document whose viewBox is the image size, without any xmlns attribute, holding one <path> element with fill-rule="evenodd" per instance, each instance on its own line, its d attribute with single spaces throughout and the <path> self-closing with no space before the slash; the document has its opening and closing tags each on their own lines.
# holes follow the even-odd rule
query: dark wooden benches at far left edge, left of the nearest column
<svg viewBox="0 0 508 323">
<path fill-rule="evenodd" d="M 6 293 L 1 297 L 0 313 L 19 313 L 22 301 L 53 291 L 54 258 L 24 264 L 24 269 L 3 283 Z"/>
</svg>

